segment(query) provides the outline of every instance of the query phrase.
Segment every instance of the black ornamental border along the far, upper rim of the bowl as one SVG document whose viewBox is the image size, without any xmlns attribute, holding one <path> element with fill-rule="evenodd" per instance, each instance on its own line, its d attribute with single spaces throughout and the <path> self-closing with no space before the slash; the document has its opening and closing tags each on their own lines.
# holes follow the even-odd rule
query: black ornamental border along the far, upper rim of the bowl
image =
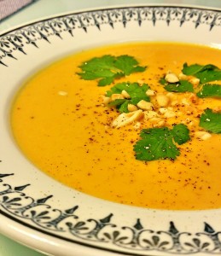
<svg viewBox="0 0 221 256">
<path fill-rule="evenodd" d="M 66 15 L 55 19 L 43 20 L 29 26 L 24 26 L 0 37 L 0 64 L 7 66 L 5 59 L 14 58 L 16 51 L 26 54 L 26 45 L 38 47 L 39 40 L 49 42 L 50 37 L 62 38 L 62 33 L 67 32 L 74 37 L 74 32 L 83 29 L 87 32 L 91 26 L 102 30 L 102 25 L 109 25 L 114 29 L 116 23 L 128 26 L 131 21 L 136 21 L 142 26 L 147 21 L 150 26 L 156 26 L 163 20 L 167 26 L 176 20 L 179 26 L 185 22 L 192 22 L 195 29 L 204 24 L 211 31 L 214 26 L 221 26 L 221 14 L 209 9 L 191 9 L 182 7 L 135 7 L 125 9 L 104 9 Z"/>
</svg>

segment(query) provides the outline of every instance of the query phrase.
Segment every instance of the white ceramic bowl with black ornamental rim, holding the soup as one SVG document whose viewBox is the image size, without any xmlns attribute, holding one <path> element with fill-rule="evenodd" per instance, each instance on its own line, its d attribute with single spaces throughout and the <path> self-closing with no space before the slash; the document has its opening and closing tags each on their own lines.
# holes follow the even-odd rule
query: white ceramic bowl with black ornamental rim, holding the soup
<svg viewBox="0 0 221 256">
<path fill-rule="evenodd" d="M 221 210 L 160 211 L 69 189 L 32 165 L 9 126 L 12 98 L 41 67 L 81 49 L 127 41 L 221 48 L 221 10 L 130 6 L 39 20 L 0 36 L 0 231 L 53 255 L 221 253 Z"/>
</svg>

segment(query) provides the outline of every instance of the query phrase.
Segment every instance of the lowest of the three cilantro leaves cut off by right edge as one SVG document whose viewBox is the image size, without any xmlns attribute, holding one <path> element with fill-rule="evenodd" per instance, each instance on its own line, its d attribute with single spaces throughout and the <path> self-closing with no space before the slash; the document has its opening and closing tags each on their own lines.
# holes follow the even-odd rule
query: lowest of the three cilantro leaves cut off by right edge
<svg viewBox="0 0 221 256">
<path fill-rule="evenodd" d="M 221 133 L 221 113 L 213 112 L 212 109 L 206 108 L 201 114 L 200 126 L 206 131 Z"/>
</svg>

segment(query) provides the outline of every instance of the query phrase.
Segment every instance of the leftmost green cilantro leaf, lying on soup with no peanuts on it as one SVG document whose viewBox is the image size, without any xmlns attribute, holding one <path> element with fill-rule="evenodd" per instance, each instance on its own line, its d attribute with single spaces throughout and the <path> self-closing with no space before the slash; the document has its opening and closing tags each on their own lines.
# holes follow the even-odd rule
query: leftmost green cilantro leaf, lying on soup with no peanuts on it
<svg viewBox="0 0 221 256">
<path fill-rule="evenodd" d="M 81 73 L 78 73 L 81 79 L 97 79 L 99 86 L 112 84 L 114 79 L 131 73 L 143 72 L 146 69 L 146 67 L 138 66 L 137 60 L 129 55 L 103 55 L 85 61 L 79 67 L 82 70 Z"/>
</svg>

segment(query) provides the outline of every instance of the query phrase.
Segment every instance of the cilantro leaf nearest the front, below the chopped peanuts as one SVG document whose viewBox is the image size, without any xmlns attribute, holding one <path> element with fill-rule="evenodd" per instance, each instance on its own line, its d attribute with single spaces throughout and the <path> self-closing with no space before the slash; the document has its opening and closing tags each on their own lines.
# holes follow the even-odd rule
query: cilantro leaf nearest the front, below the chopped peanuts
<svg viewBox="0 0 221 256">
<path fill-rule="evenodd" d="M 183 144 L 189 140 L 189 130 L 185 125 L 174 125 L 172 130 L 167 127 L 143 129 L 142 138 L 134 145 L 137 160 L 175 160 L 180 154 L 175 143 Z"/>
</svg>

